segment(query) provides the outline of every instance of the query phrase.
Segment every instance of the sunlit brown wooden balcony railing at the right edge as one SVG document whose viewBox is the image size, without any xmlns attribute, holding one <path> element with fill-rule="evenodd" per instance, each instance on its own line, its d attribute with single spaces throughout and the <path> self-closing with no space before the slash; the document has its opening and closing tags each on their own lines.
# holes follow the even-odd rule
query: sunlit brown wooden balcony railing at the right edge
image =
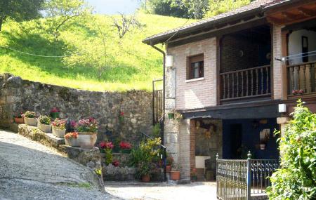
<svg viewBox="0 0 316 200">
<path fill-rule="evenodd" d="M 287 66 L 288 95 L 316 93 L 316 61 Z"/>
</svg>

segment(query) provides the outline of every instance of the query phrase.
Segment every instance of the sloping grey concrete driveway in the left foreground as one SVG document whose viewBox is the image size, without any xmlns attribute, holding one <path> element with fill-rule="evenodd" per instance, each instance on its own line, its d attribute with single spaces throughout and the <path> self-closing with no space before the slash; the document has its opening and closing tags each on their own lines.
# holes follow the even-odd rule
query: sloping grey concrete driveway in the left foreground
<svg viewBox="0 0 316 200">
<path fill-rule="evenodd" d="M 98 191 L 88 168 L 53 149 L 0 131 L 0 199 L 119 199 Z"/>
</svg>

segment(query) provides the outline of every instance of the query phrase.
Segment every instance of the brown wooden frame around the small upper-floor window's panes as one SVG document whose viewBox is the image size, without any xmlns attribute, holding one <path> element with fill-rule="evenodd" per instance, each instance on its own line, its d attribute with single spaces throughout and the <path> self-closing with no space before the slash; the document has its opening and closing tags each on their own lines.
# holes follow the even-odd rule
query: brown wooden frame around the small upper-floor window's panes
<svg viewBox="0 0 316 200">
<path fill-rule="evenodd" d="M 193 64 L 200 62 L 199 64 L 199 76 L 194 76 L 195 67 Z M 187 80 L 199 79 L 204 77 L 204 54 L 192 55 L 187 57 Z"/>
</svg>

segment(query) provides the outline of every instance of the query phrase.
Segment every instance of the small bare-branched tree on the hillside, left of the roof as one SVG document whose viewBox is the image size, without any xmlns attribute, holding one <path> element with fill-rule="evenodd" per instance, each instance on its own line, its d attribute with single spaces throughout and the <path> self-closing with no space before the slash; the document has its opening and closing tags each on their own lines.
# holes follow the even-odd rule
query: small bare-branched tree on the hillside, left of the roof
<svg viewBox="0 0 316 200">
<path fill-rule="evenodd" d="M 117 28 L 119 38 L 123 38 L 126 32 L 130 32 L 132 28 L 141 28 L 143 25 L 136 19 L 135 15 L 126 16 L 123 13 L 119 13 L 119 18 L 112 17 L 113 26 Z"/>
</svg>

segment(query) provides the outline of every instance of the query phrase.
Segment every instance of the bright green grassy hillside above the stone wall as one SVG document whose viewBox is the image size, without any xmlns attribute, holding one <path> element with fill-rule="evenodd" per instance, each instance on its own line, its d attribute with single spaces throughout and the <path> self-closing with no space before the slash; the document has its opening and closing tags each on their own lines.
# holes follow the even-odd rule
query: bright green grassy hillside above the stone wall
<svg viewBox="0 0 316 200">
<path fill-rule="evenodd" d="M 0 46 L 37 55 L 81 54 L 41 58 L 0 48 L 0 73 L 91 91 L 150 90 L 152 79 L 162 77 L 162 55 L 142 39 L 181 26 L 186 19 L 139 14 L 138 20 L 145 27 L 128 32 L 123 39 L 105 15 L 67 22 L 58 39 L 48 33 L 46 20 L 7 22 L 0 32 Z"/>
</svg>

